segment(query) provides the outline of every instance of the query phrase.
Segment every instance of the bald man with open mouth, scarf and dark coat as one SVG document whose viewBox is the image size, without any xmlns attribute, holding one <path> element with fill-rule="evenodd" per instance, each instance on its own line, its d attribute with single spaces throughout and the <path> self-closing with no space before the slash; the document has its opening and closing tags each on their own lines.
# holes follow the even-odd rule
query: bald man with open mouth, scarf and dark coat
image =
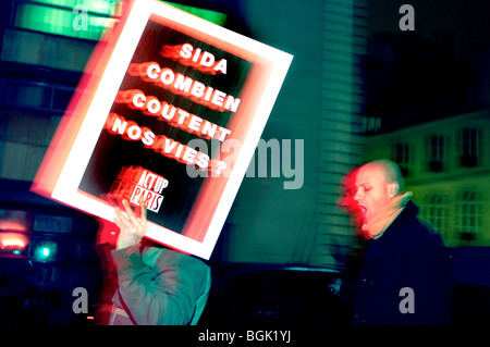
<svg viewBox="0 0 490 347">
<path fill-rule="evenodd" d="M 354 179 L 368 237 L 353 324 L 449 323 L 451 269 L 439 234 L 417 218 L 399 166 L 378 160 Z"/>
</svg>

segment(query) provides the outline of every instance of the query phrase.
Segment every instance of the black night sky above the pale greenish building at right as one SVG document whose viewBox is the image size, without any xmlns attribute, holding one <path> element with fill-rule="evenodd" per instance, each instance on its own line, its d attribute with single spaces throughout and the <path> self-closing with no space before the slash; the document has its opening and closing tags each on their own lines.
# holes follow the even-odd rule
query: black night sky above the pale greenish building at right
<svg viewBox="0 0 490 347">
<path fill-rule="evenodd" d="M 366 113 L 382 131 L 488 108 L 490 0 L 367 2 Z M 403 4 L 414 8 L 414 32 L 400 28 Z"/>
</svg>

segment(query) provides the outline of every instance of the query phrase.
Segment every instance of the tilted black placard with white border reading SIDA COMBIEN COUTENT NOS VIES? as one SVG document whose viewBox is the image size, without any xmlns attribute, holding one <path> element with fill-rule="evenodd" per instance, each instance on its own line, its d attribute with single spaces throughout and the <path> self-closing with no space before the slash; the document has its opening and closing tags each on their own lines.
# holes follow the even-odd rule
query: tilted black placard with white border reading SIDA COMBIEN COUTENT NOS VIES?
<svg viewBox="0 0 490 347">
<path fill-rule="evenodd" d="M 147 238 L 209 259 L 292 58 L 162 2 L 130 2 L 33 190 L 108 221 L 143 197 Z"/>
</svg>

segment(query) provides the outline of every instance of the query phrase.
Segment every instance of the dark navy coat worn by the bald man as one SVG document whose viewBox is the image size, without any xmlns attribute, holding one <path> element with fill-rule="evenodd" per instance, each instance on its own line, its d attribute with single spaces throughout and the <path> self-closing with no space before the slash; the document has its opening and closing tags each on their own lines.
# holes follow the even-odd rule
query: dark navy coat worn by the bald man
<svg viewBox="0 0 490 347">
<path fill-rule="evenodd" d="M 450 257 L 439 234 L 409 201 L 378 239 L 369 240 L 353 324 L 446 324 Z"/>
</svg>

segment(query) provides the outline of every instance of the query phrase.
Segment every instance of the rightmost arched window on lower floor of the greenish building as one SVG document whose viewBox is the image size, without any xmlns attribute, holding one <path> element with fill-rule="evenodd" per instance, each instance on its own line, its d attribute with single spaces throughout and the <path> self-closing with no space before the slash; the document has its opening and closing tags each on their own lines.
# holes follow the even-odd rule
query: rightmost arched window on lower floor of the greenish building
<svg viewBox="0 0 490 347">
<path fill-rule="evenodd" d="M 467 190 L 460 195 L 456 206 L 456 226 L 463 243 L 478 239 L 481 224 L 481 199 L 477 191 Z"/>
</svg>

